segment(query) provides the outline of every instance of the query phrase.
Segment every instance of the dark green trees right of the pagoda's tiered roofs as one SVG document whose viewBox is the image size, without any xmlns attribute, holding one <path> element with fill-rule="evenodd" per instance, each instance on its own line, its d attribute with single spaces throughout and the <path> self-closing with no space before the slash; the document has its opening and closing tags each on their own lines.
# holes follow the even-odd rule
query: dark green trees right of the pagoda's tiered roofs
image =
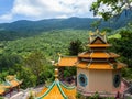
<svg viewBox="0 0 132 99">
<path fill-rule="evenodd" d="M 128 64 L 129 67 L 132 66 L 132 30 L 122 29 L 119 31 L 121 35 L 120 38 L 110 38 L 113 47 L 112 51 L 121 55 L 120 61 Z"/>
</svg>

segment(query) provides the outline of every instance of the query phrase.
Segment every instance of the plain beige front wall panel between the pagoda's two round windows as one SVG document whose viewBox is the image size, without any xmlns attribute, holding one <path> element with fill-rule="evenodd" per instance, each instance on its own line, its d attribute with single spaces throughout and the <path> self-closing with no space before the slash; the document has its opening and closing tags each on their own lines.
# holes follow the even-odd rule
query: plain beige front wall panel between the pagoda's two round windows
<svg viewBox="0 0 132 99">
<path fill-rule="evenodd" d="M 89 70 L 90 91 L 112 91 L 112 70 Z"/>
</svg>

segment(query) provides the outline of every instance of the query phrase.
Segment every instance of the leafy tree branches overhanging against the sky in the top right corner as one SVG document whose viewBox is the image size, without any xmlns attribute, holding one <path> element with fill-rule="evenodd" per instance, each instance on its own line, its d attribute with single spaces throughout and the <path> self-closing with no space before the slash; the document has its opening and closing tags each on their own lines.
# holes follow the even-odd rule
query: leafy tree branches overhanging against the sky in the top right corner
<svg viewBox="0 0 132 99">
<path fill-rule="evenodd" d="M 95 15 L 101 15 L 108 20 L 127 9 L 132 10 L 132 0 L 96 0 L 90 10 L 94 11 Z"/>
</svg>

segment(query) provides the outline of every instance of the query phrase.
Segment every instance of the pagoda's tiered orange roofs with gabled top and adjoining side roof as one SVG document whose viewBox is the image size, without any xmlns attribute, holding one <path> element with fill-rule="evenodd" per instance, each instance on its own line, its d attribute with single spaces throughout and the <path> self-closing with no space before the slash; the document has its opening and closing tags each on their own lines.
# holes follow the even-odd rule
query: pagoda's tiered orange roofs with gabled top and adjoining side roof
<svg viewBox="0 0 132 99">
<path fill-rule="evenodd" d="M 61 56 L 56 66 L 77 66 L 87 69 L 121 69 L 125 65 L 117 62 L 118 54 L 108 52 L 106 33 L 90 33 L 89 51 L 78 54 L 78 56 Z"/>
</svg>

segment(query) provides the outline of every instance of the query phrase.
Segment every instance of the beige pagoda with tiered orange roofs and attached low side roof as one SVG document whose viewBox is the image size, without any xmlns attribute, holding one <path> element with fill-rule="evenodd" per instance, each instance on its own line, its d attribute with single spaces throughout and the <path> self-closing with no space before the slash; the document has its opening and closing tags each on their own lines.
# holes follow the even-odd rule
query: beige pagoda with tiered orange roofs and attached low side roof
<svg viewBox="0 0 132 99">
<path fill-rule="evenodd" d="M 121 86 L 121 68 L 125 65 L 118 62 L 118 54 L 109 52 L 106 33 L 89 34 L 89 48 L 78 56 L 61 56 L 57 67 L 77 67 L 77 89 L 84 95 L 92 92 L 119 91 Z"/>
</svg>

